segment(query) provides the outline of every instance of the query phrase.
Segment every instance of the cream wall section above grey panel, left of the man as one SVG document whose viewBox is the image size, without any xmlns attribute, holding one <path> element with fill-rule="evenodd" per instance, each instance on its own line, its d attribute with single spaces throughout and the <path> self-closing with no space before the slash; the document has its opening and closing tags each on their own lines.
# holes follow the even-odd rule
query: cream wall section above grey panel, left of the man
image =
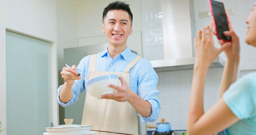
<svg viewBox="0 0 256 135">
<path fill-rule="evenodd" d="M 64 48 L 78 47 L 77 6 L 66 0 L 57 0 L 58 71 L 64 66 Z M 60 74 L 58 73 L 59 77 Z M 63 79 L 60 78 L 61 83 Z"/>
</svg>

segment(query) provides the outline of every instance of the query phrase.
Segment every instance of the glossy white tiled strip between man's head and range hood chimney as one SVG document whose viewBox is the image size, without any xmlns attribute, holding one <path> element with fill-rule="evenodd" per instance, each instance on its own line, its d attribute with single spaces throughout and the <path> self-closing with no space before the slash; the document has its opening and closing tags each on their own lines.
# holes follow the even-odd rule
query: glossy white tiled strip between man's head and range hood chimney
<svg viewBox="0 0 256 135">
<path fill-rule="evenodd" d="M 147 60 L 164 59 L 162 12 L 159 0 L 141 0 L 141 24 L 143 57 Z"/>
</svg>

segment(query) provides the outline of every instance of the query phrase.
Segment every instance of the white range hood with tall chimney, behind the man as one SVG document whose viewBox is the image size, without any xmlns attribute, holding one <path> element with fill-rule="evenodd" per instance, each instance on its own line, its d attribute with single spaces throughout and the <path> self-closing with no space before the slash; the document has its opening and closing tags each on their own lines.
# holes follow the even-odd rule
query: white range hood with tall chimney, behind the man
<svg viewBox="0 0 256 135">
<path fill-rule="evenodd" d="M 196 24 L 193 0 L 161 0 L 164 59 L 150 61 L 155 71 L 189 70 L 194 68 Z M 210 68 L 223 67 L 218 56 Z"/>
</svg>

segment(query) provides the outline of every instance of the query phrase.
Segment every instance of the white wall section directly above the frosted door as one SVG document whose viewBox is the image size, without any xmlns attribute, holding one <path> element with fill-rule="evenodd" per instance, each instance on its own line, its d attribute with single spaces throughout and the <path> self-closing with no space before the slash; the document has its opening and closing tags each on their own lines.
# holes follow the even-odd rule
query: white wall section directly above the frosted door
<svg viewBox="0 0 256 135">
<path fill-rule="evenodd" d="M 7 1 L 6 27 L 56 42 L 56 1 Z"/>
</svg>

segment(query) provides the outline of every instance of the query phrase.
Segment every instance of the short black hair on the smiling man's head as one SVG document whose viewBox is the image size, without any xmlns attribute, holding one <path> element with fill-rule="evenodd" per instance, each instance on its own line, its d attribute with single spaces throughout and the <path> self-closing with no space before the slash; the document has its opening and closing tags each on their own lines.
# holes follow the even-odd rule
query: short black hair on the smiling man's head
<svg viewBox="0 0 256 135">
<path fill-rule="evenodd" d="M 129 4 L 125 4 L 124 2 L 120 2 L 120 1 L 115 1 L 112 3 L 109 3 L 109 5 L 107 5 L 107 7 L 104 8 L 103 11 L 103 15 L 102 15 L 102 22 L 104 23 L 104 17 L 106 17 L 107 12 L 109 12 L 110 10 L 124 10 L 127 11 L 129 14 L 129 17 L 132 21 L 132 12 L 129 8 Z"/>
</svg>

